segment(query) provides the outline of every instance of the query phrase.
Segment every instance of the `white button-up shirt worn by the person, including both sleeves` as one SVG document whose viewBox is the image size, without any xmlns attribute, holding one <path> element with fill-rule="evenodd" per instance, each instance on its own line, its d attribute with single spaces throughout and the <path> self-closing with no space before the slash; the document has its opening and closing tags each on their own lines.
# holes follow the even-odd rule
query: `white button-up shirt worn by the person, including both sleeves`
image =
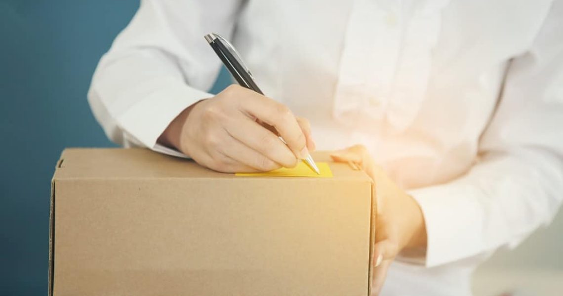
<svg viewBox="0 0 563 296">
<path fill-rule="evenodd" d="M 418 201 L 426 257 L 392 264 L 383 295 L 468 295 L 477 263 L 555 215 L 562 1 L 144 0 L 88 94 L 113 141 L 175 153 L 157 138 L 212 97 L 210 32 L 318 149 L 364 144 Z"/>
</svg>

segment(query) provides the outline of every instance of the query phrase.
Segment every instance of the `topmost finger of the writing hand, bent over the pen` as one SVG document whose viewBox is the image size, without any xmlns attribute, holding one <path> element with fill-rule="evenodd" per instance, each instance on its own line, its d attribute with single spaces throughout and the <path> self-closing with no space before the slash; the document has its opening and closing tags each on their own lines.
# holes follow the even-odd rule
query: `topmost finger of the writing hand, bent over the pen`
<svg viewBox="0 0 563 296">
<path fill-rule="evenodd" d="M 249 91 L 242 100 L 240 108 L 251 116 L 272 125 L 298 158 L 309 155 L 305 134 L 289 108 L 255 92 Z"/>
</svg>

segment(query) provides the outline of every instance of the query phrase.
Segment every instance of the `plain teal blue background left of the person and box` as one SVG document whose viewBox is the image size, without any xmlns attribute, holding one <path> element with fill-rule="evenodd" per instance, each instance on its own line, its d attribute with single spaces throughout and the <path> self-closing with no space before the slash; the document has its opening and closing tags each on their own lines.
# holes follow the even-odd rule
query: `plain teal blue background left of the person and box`
<svg viewBox="0 0 563 296">
<path fill-rule="evenodd" d="M 114 146 L 86 94 L 138 0 L 0 0 L 0 295 L 46 295 L 50 182 L 64 147 Z M 228 83 L 225 71 L 212 92 Z"/>
</svg>

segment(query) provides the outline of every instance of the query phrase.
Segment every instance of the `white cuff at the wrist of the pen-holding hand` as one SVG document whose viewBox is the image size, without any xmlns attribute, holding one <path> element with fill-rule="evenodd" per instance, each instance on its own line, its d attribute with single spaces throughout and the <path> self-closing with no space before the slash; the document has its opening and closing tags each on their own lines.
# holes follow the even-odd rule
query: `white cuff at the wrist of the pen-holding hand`
<svg viewBox="0 0 563 296">
<path fill-rule="evenodd" d="M 138 145 L 159 153 L 186 158 L 186 155 L 177 150 L 159 145 L 157 140 L 172 120 L 186 107 L 209 97 L 213 95 L 178 83 L 176 80 L 163 83 L 117 116 L 117 123 L 123 133 Z"/>
</svg>

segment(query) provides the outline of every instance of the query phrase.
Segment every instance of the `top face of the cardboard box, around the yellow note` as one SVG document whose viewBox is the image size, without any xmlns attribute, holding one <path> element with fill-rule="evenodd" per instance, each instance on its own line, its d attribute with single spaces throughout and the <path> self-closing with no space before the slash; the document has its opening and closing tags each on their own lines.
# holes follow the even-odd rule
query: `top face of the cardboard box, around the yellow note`
<svg viewBox="0 0 563 296">
<path fill-rule="evenodd" d="M 328 162 L 333 180 L 370 182 L 362 171 L 354 171 L 348 164 L 334 163 L 327 152 L 312 153 L 317 162 Z M 81 178 L 267 178 L 311 180 L 307 177 L 243 177 L 219 173 L 203 168 L 193 160 L 163 155 L 148 149 L 70 148 L 62 152 L 57 163 L 55 180 Z M 323 178 L 330 180 L 330 178 Z"/>
</svg>

